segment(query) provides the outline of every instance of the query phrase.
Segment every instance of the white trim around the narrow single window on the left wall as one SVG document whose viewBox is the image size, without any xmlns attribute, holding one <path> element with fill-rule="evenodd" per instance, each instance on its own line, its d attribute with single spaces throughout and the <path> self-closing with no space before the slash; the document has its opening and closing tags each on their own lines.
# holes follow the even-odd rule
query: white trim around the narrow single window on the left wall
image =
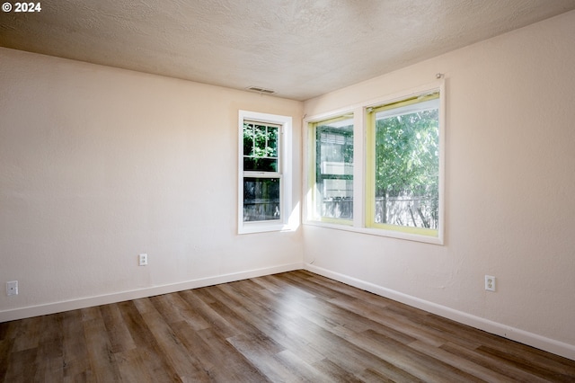
<svg viewBox="0 0 575 383">
<path fill-rule="evenodd" d="M 279 172 L 280 178 L 280 219 L 273 221 L 243 222 L 243 121 L 261 121 L 280 125 L 279 131 Z M 237 232 L 238 234 L 261 233 L 269 231 L 295 230 L 298 219 L 292 211 L 292 118 L 277 114 L 261 113 L 257 111 L 239 111 L 238 113 L 238 183 L 237 183 Z M 259 172 L 249 172 L 257 176 Z"/>
</svg>

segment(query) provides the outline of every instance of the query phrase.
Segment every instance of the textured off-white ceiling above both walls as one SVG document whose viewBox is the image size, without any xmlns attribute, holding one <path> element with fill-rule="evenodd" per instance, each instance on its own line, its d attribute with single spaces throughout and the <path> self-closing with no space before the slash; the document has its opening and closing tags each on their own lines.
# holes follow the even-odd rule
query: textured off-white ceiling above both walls
<svg viewBox="0 0 575 383">
<path fill-rule="evenodd" d="M 296 100 L 575 9 L 575 0 L 49 0 L 0 46 Z M 0 63 L 1 65 L 1 63 Z"/>
</svg>

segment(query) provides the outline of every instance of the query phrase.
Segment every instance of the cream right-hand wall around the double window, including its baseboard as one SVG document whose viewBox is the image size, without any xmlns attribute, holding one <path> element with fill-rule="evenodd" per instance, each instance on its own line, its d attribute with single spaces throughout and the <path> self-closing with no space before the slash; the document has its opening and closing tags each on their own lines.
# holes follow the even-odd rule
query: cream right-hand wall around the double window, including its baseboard
<svg viewBox="0 0 575 383">
<path fill-rule="evenodd" d="M 446 245 L 305 226 L 308 268 L 575 359 L 573 36 L 565 13 L 305 102 L 446 78 Z"/>
</svg>

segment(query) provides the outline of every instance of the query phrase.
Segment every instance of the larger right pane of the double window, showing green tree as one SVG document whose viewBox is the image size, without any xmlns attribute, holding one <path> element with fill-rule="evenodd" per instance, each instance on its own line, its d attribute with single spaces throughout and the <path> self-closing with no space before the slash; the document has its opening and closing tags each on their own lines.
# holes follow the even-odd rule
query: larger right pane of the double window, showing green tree
<svg viewBox="0 0 575 383">
<path fill-rule="evenodd" d="M 376 111 L 375 222 L 438 228 L 439 99 Z"/>
</svg>

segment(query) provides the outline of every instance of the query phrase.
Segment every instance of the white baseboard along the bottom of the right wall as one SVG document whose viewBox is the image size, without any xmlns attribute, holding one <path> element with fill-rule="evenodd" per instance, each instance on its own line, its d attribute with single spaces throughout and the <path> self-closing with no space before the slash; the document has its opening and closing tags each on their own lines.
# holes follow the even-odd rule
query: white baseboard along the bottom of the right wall
<svg viewBox="0 0 575 383">
<path fill-rule="evenodd" d="M 556 355 L 561 355 L 562 357 L 575 361 L 575 345 L 573 344 L 562 343 L 560 341 L 546 338 L 538 334 L 529 333 L 509 325 L 502 325 L 480 316 L 473 316 L 471 314 L 464 313 L 463 311 L 458 311 L 453 308 L 429 302 L 427 300 L 412 297 L 393 289 L 386 289 L 374 283 L 361 281 L 339 272 L 331 272 L 321 267 L 314 266 L 310 263 L 305 263 L 305 270 L 323 275 L 324 277 L 335 281 L 341 281 L 358 289 L 364 289 L 385 298 L 396 300 L 411 307 L 417 307 L 428 311 L 429 313 L 455 320 L 461 324 L 470 325 L 488 333 L 500 335 L 504 338 L 508 338 L 519 343 L 524 343 L 546 352 L 552 352 Z"/>
</svg>

